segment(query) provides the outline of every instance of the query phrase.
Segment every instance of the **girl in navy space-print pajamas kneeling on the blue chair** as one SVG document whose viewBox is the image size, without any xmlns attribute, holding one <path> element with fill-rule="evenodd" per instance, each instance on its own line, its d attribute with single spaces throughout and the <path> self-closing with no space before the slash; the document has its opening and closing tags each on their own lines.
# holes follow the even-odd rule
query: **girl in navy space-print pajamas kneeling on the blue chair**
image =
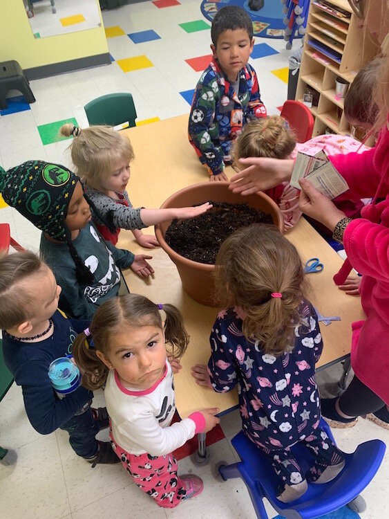
<svg viewBox="0 0 389 519">
<path fill-rule="evenodd" d="M 216 293 L 226 309 L 211 331 L 208 367 L 193 366 L 192 374 L 217 392 L 238 385 L 243 431 L 271 460 L 278 499 L 296 500 L 307 482 L 328 482 L 345 464 L 319 427 L 315 364 L 323 341 L 296 248 L 274 226 L 238 230 L 220 248 Z M 315 457 L 306 474 L 290 450 L 298 441 Z"/>
</svg>

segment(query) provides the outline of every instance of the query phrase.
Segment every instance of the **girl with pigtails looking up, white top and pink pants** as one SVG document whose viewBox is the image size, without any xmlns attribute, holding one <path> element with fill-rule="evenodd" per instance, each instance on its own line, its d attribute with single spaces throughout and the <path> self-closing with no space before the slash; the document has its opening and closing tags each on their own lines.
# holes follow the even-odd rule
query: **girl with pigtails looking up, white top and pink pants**
<svg viewBox="0 0 389 519">
<path fill-rule="evenodd" d="M 174 384 L 165 343 L 179 358 L 188 340 L 178 309 L 128 294 L 103 304 L 73 344 L 84 386 L 105 384 L 113 450 L 135 484 L 163 508 L 196 497 L 203 487 L 196 475 L 178 477 L 173 450 L 219 423 L 213 408 L 171 424 Z"/>
</svg>

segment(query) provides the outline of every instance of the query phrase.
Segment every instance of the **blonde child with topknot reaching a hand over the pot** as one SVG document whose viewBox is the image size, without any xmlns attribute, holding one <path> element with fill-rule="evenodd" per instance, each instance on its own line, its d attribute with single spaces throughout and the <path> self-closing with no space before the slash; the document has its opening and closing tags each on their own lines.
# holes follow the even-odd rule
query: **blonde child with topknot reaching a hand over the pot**
<svg viewBox="0 0 389 519">
<path fill-rule="evenodd" d="M 59 132 L 74 137 L 70 144 L 72 161 L 84 182 L 93 221 L 102 236 L 113 245 L 117 243 L 120 229 L 130 229 L 138 244 L 153 248 L 158 246 L 158 240 L 155 236 L 144 235 L 141 228 L 174 218 L 192 218 L 211 208 L 207 202 L 188 208 L 135 209 L 126 191 L 130 179 L 129 163 L 135 157 L 129 139 L 107 126 L 80 129 L 66 124 Z"/>
</svg>

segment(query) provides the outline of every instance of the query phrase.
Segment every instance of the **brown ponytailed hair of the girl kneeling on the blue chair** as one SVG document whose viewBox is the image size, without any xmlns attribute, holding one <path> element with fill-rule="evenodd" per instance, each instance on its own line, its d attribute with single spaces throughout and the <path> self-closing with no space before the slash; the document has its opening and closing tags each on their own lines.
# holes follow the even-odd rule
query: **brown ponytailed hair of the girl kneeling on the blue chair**
<svg viewBox="0 0 389 519">
<path fill-rule="evenodd" d="M 296 247 L 276 226 L 253 224 L 228 237 L 216 258 L 216 293 L 226 308 L 246 313 L 243 334 L 279 356 L 294 345 L 305 299 L 303 265 Z M 272 297 L 281 293 L 282 298 Z"/>
</svg>

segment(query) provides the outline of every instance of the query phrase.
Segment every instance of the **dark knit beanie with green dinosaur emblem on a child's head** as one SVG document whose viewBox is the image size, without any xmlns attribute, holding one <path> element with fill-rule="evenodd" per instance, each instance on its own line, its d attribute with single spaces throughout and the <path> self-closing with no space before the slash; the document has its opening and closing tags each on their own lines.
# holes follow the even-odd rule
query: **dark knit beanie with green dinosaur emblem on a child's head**
<svg viewBox="0 0 389 519">
<path fill-rule="evenodd" d="M 0 191 L 15 208 L 48 236 L 66 240 L 65 219 L 79 177 L 67 167 L 28 161 L 7 172 L 0 168 Z"/>
</svg>

